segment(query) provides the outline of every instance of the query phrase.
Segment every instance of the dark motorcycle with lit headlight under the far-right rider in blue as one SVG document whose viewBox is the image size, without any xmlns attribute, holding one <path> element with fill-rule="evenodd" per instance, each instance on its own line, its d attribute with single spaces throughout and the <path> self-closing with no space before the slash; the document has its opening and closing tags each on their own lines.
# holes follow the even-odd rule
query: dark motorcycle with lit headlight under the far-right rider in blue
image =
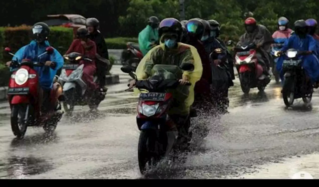
<svg viewBox="0 0 319 187">
<path fill-rule="evenodd" d="M 312 99 L 313 86 L 301 66 L 302 60 L 298 58 L 300 55 L 306 55 L 305 51 L 288 49 L 283 56 L 282 96 L 287 107 L 293 104 L 294 99 L 302 98 L 304 103 L 310 103 Z"/>
</svg>

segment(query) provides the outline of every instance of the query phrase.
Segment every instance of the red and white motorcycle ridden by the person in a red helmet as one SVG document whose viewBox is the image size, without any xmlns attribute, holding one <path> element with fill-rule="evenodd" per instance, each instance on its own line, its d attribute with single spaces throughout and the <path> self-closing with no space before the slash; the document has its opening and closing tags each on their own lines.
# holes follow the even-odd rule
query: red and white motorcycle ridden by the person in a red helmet
<svg viewBox="0 0 319 187">
<path fill-rule="evenodd" d="M 259 91 L 264 91 L 270 78 L 263 74 L 263 67 L 258 64 L 256 56 L 256 45 L 239 45 L 235 47 L 235 65 L 238 70 L 241 90 L 248 94 L 250 88 L 257 87 Z"/>
</svg>

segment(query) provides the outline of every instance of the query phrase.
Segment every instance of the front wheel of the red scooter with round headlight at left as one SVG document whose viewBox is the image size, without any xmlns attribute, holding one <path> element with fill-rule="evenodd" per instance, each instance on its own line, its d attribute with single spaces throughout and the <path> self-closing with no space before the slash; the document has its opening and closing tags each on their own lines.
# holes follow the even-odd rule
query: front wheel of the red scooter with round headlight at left
<svg viewBox="0 0 319 187">
<path fill-rule="evenodd" d="M 18 139 L 22 139 L 26 133 L 28 122 L 25 120 L 26 108 L 25 104 L 16 104 L 11 108 L 11 129 Z"/>
</svg>

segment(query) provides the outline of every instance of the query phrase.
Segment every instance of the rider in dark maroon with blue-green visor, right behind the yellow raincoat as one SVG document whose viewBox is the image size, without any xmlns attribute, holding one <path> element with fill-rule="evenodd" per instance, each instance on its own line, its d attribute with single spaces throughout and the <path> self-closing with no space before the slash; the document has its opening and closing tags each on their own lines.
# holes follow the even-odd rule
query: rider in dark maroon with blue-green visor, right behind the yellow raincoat
<svg viewBox="0 0 319 187">
<path fill-rule="evenodd" d="M 208 103 L 210 103 L 211 99 L 211 63 L 208 58 L 209 54 L 206 54 L 205 47 L 200 41 L 203 36 L 204 24 L 200 19 L 190 19 L 186 24 L 186 29 L 188 32 L 187 44 L 197 49 L 203 65 L 203 76 L 195 85 L 195 101 L 193 106 L 194 108 L 210 107 Z M 208 103 L 203 104 L 205 101 Z"/>
</svg>

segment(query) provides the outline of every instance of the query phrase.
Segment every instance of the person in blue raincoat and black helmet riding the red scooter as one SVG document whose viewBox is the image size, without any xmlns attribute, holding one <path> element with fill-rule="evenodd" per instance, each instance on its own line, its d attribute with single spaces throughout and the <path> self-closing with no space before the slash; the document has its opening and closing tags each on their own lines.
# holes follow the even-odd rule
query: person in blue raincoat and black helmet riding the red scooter
<svg viewBox="0 0 319 187">
<path fill-rule="evenodd" d="M 40 58 L 38 56 L 45 52 L 46 48 L 50 46 L 48 42 L 48 36 L 50 34 L 50 28 L 46 23 L 38 22 L 32 27 L 33 40 L 20 48 L 12 60 L 21 62 L 23 59 L 29 59 L 34 62 L 45 63 L 45 67 L 33 67 L 34 70 L 40 75 L 39 84 L 43 90 L 43 109 L 41 112 L 51 112 L 54 106 L 51 106 L 50 92 L 53 87 L 53 79 L 58 69 L 62 68 L 64 64 L 63 56 L 53 49 L 53 54 L 43 55 Z M 10 66 L 11 61 L 6 63 Z M 51 64 L 55 64 L 55 68 L 49 67 Z M 39 99 L 39 98 L 37 98 Z"/>
</svg>

